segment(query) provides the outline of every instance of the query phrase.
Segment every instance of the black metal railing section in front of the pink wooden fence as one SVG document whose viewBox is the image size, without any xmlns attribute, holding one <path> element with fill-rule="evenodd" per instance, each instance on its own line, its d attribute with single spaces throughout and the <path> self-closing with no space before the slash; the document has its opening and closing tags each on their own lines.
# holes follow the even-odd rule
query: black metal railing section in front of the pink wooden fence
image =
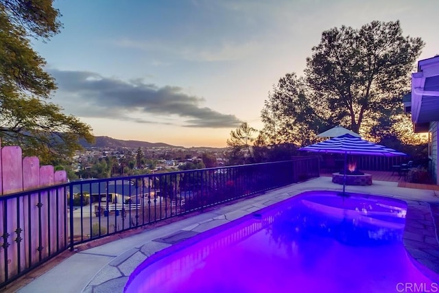
<svg viewBox="0 0 439 293">
<path fill-rule="evenodd" d="M 68 184 L 0 196 L 0 288 L 69 248 Z"/>
</svg>

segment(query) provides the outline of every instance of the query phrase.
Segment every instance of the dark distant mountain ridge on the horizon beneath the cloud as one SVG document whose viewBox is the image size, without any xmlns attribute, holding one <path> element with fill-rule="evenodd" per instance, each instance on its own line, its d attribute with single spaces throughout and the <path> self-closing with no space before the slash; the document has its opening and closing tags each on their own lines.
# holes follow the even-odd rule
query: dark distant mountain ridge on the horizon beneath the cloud
<svg viewBox="0 0 439 293">
<path fill-rule="evenodd" d="M 169 145 L 167 143 L 149 143 L 147 141 L 123 141 L 122 139 L 112 139 L 111 137 L 95 137 L 95 143 L 87 143 L 84 139 L 80 140 L 84 148 L 183 148 L 182 146 Z"/>
</svg>

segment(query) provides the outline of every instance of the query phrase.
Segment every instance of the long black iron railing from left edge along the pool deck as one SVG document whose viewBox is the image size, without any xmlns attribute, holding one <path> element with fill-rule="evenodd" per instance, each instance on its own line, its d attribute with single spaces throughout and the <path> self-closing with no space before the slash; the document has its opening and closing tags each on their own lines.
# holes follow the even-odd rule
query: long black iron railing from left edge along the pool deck
<svg viewBox="0 0 439 293">
<path fill-rule="evenodd" d="M 75 245 L 319 176 L 319 159 L 80 180 L 0 196 L 0 288 Z"/>
</svg>

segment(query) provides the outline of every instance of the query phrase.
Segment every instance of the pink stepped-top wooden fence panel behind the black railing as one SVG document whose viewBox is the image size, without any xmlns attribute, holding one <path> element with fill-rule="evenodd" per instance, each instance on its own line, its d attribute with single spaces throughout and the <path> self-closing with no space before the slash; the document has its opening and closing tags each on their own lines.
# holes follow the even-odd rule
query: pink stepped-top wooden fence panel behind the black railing
<svg viewBox="0 0 439 293">
<path fill-rule="evenodd" d="M 49 165 L 40 167 L 36 156 L 23 159 L 20 147 L 1 148 L 0 197 L 65 182 L 65 171 L 54 172 Z M 0 283 L 67 245 L 64 189 L 31 191 L 0 201 Z"/>
</svg>

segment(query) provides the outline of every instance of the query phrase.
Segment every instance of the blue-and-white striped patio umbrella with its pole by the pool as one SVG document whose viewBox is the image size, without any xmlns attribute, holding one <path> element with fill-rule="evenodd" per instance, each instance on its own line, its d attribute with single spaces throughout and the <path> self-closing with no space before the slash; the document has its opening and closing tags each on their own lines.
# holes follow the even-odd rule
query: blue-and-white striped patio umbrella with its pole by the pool
<svg viewBox="0 0 439 293">
<path fill-rule="evenodd" d="M 343 178 L 343 194 L 346 188 L 346 161 L 348 154 L 366 154 L 375 156 L 407 156 L 403 152 L 398 152 L 392 148 L 386 148 L 370 141 L 354 137 L 351 134 L 344 134 L 340 137 L 333 137 L 320 143 L 308 145 L 299 150 L 308 152 L 325 152 L 334 154 L 344 154 L 344 178 Z"/>
</svg>

